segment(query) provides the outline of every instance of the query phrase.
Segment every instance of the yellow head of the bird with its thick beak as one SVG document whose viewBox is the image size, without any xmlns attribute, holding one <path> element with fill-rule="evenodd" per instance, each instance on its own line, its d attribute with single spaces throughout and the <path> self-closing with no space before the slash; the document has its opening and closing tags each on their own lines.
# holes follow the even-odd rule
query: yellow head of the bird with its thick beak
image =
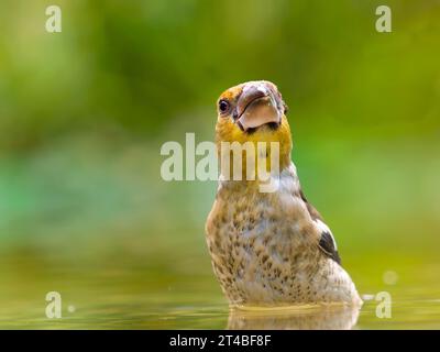
<svg viewBox="0 0 440 352">
<path fill-rule="evenodd" d="M 292 136 L 287 106 L 278 88 L 267 80 L 248 81 L 227 89 L 217 101 L 216 140 L 221 142 L 271 142 L 279 145 L 279 167 L 290 163 Z"/>
</svg>

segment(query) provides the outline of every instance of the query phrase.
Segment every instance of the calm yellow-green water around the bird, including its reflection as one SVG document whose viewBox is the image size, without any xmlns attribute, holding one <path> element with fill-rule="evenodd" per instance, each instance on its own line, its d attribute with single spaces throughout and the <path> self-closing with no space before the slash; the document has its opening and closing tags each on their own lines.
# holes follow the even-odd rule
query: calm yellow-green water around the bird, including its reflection
<svg viewBox="0 0 440 352">
<path fill-rule="evenodd" d="M 439 329 L 440 266 L 403 261 L 382 272 L 363 258 L 349 261 L 361 295 L 360 311 L 338 307 L 229 310 L 205 253 L 152 255 L 3 255 L 0 268 L 2 329 Z M 377 268 L 378 267 L 378 268 Z M 392 278 L 392 279 L 391 279 Z M 387 283 L 384 283 L 388 280 Z M 45 295 L 62 295 L 61 319 L 45 316 Z M 378 292 L 392 296 L 392 317 L 380 318 Z"/>
</svg>

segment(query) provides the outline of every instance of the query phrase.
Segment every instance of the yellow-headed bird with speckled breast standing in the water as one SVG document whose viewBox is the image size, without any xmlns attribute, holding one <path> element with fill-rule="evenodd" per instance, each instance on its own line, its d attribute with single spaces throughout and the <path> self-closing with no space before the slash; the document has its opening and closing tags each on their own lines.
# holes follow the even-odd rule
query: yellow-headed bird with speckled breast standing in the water
<svg viewBox="0 0 440 352">
<path fill-rule="evenodd" d="M 224 144 L 268 144 L 265 153 L 256 148 L 250 158 L 220 166 L 206 222 L 212 268 L 229 305 L 362 305 L 341 265 L 331 230 L 301 189 L 292 161 L 288 108 L 275 84 L 253 80 L 229 88 L 218 99 L 217 112 L 220 164 L 226 154 L 233 154 L 224 152 Z M 278 150 L 276 162 L 270 160 L 273 143 Z M 274 190 L 262 191 L 263 179 L 244 177 L 246 166 L 262 161 L 266 170 L 271 170 L 271 161 L 276 163 L 277 173 L 268 173 L 265 179 L 274 182 Z M 244 166 L 238 173 L 243 177 L 231 176 L 237 165 Z"/>
</svg>

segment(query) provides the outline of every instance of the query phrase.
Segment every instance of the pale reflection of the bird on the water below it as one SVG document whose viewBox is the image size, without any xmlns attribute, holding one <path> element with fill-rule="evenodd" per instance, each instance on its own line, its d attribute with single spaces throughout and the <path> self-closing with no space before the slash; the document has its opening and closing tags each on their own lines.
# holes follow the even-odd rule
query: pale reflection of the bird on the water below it
<svg viewBox="0 0 440 352">
<path fill-rule="evenodd" d="M 232 309 L 228 329 L 274 330 L 349 330 L 358 321 L 360 307 L 288 307 Z"/>
</svg>

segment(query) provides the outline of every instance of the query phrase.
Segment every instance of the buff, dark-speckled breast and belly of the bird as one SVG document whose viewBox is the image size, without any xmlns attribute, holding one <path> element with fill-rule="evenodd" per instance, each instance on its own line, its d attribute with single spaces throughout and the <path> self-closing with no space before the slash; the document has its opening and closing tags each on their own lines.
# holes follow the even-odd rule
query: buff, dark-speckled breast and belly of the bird
<svg viewBox="0 0 440 352">
<path fill-rule="evenodd" d="M 348 274 L 317 248 L 317 229 L 292 187 L 262 194 L 219 187 L 207 222 L 213 271 L 232 305 L 346 301 Z"/>
</svg>

